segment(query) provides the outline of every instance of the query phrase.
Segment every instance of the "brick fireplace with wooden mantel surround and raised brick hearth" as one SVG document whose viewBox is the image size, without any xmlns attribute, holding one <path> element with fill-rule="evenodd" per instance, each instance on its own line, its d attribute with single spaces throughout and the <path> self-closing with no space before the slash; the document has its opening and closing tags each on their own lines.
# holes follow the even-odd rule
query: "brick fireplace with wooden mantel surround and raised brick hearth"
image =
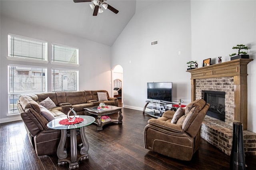
<svg viewBox="0 0 256 170">
<path fill-rule="evenodd" d="M 204 99 L 204 91 L 225 92 L 225 121 L 206 115 L 201 137 L 228 155 L 234 121 L 243 123 L 245 153 L 256 155 L 256 134 L 247 130 L 247 64 L 252 60 L 236 59 L 187 71 L 191 73 L 191 101 Z"/>
</svg>

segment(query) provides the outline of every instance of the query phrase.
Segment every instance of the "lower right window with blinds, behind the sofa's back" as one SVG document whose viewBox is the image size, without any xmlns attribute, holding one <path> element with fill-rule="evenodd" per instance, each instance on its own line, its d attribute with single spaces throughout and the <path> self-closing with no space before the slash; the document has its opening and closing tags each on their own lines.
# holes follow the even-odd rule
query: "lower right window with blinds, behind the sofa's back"
<svg viewBox="0 0 256 170">
<path fill-rule="evenodd" d="M 52 91 L 77 91 L 78 71 L 52 69 Z"/>
</svg>

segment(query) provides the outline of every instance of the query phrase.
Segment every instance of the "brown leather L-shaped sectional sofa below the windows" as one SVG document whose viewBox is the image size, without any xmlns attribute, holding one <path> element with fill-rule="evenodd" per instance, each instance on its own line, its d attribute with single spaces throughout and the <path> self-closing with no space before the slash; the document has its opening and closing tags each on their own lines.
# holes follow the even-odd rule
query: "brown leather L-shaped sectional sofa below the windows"
<svg viewBox="0 0 256 170">
<path fill-rule="evenodd" d="M 98 101 L 97 92 L 106 92 L 108 101 Z M 109 97 L 108 91 L 61 91 L 31 95 L 21 95 L 17 101 L 20 116 L 24 121 L 28 137 L 38 156 L 54 154 L 60 141 L 60 130 L 47 127 L 48 120 L 42 116 L 39 103 L 50 97 L 56 107 L 48 109 L 54 117 L 66 117 L 74 108 L 77 115 L 84 115 L 85 107 L 97 106 L 104 102 L 106 105 L 118 106 L 116 97 Z"/>
</svg>

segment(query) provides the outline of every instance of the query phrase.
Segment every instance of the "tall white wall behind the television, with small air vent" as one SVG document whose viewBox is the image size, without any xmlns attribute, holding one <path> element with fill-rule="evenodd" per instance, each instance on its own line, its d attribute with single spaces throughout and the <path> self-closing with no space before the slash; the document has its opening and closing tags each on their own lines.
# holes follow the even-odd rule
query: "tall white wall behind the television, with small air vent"
<svg viewBox="0 0 256 170">
<path fill-rule="evenodd" d="M 153 81 L 173 82 L 174 102 L 191 101 L 190 73 L 186 72 L 190 31 L 189 1 L 160 1 L 136 12 L 112 45 L 112 67 L 123 67 L 124 107 L 142 110 L 147 82 Z M 151 46 L 155 40 L 159 44 Z"/>
</svg>

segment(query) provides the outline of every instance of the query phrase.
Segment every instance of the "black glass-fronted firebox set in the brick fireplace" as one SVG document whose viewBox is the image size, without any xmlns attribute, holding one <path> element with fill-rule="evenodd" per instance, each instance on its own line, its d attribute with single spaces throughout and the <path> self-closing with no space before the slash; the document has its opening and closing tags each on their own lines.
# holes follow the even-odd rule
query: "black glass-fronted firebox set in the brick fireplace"
<svg viewBox="0 0 256 170">
<path fill-rule="evenodd" d="M 225 92 L 204 91 L 204 100 L 210 104 L 206 115 L 225 122 Z"/>
</svg>

